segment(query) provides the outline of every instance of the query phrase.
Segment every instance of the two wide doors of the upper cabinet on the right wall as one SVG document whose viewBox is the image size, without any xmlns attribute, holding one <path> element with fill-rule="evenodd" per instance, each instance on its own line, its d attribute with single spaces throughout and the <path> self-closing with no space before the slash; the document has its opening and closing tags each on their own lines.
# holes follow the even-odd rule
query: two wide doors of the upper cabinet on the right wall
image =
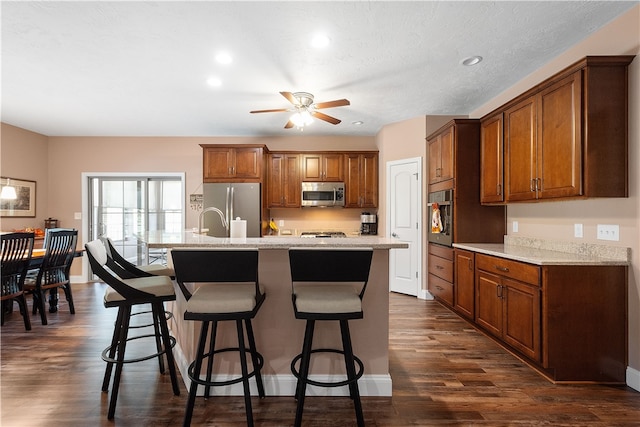
<svg viewBox="0 0 640 427">
<path fill-rule="evenodd" d="M 582 194 L 582 72 L 505 112 L 507 201 Z"/>
</svg>

